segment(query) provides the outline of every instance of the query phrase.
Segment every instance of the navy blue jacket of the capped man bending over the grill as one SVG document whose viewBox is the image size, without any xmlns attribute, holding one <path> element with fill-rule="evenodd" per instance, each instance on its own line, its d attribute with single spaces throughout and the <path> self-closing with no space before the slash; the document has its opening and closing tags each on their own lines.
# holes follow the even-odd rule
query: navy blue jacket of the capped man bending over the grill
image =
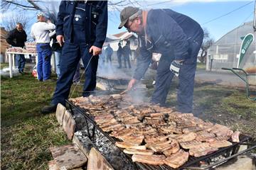
<svg viewBox="0 0 256 170">
<path fill-rule="evenodd" d="M 152 52 L 170 60 L 186 60 L 193 40 L 203 37 L 203 29 L 192 18 L 171 9 L 152 9 L 146 18 L 146 38 L 139 35 L 139 52 L 134 79 L 142 79 L 151 63 Z"/>
</svg>

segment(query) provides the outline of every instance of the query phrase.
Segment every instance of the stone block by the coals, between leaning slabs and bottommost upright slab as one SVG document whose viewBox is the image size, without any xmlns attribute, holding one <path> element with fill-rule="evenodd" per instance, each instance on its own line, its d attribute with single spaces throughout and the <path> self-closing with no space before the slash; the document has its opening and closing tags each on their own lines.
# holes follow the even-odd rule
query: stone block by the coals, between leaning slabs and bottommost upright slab
<svg viewBox="0 0 256 170">
<path fill-rule="evenodd" d="M 73 137 L 73 143 L 75 145 L 78 145 L 81 152 L 85 154 L 85 156 L 88 158 L 90 149 L 92 149 L 93 147 L 92 141 L 89 139 L 89 137 L 76 135 L 76 133 L 77 132 L 75 132 L 75 135 Z"/>
</svg>

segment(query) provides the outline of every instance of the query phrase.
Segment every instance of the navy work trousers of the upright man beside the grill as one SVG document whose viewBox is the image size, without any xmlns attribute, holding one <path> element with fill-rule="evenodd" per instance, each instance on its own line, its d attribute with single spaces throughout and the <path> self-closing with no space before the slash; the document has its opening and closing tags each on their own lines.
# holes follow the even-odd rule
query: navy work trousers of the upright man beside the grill
<svg viewBox="0 0 256 170">
<path fill-rule="evenodd" d="M 70 87 L 73 84 L 73 77 L 80 58 L 82 58 L 82 62 L 86 68 L 92 57 L 89 49 L 90 45 L 86 43 L 65 42 L 60 61 L 60 78 L 57 81 L 51 104 L 57 105 L 61 103 L 65 106 L 65 99 L 68 99 Z M 85 70 L 85 84 L 82 96 L 90 96 L 92 91 L 95 90 L 98 60 L 99 56 L 93 56 Z"/>
</svg>

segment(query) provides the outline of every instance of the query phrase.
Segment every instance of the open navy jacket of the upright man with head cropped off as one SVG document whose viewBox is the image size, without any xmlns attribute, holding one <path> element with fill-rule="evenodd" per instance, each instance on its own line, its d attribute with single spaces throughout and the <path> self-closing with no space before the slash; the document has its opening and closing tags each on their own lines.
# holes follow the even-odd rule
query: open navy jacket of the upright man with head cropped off
<svg viewBox="0 0 256 170">
<path fill-rule="evenodd" d="M 73 42 L 73 19 L 78 1 L 61 1 L 56 34 L 64 35 L 65 41 Z M 87 1 L 85 7 L 85 40 L 91 45 L 102 47 L 107 33 L 107 1 Z"/>
</svg>

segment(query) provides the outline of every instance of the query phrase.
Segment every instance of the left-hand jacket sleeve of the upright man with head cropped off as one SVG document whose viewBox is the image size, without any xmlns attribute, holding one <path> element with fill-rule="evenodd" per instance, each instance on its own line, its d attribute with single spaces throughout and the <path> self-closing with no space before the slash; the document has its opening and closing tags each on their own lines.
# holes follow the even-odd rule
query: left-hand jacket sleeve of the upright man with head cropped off
<svg viewBox="0 0 256 170">
<path fill-rule="evenodd" d="M 65 17 L 65 1 L 60 2 L 57 22 L 56 22 L 56 35 L 64 35 L 63 33 L 63 23 Z"/>
</svg>

